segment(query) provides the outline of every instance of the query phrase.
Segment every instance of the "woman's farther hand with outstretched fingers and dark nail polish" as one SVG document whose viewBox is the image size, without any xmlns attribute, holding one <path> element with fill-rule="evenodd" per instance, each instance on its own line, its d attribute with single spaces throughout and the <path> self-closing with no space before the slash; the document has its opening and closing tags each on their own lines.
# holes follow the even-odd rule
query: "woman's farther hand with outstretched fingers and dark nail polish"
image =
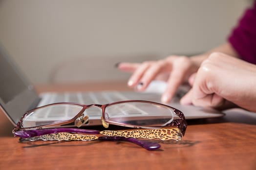
<svg viewBox="0 0 256 170">
<path fill-rule="evenodd" d="M 138 91 L 145 90 L 152 80 L 167 81 L 162 102 L 170 102 L 179 85 L 186 82 L 190 75 L 197 71 L 199 65 L 186 56 L 170 56 L 141 64 L 120 63 L 118 68 L 133 73 L 128 80 L 128 86 L 136 87 Z"/>
</svg>

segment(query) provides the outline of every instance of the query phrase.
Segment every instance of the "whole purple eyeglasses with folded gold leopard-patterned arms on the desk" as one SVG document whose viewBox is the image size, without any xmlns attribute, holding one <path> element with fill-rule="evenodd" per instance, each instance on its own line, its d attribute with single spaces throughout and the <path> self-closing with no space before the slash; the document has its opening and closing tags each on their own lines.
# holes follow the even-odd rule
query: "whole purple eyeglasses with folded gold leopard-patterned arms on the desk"
<svg viewBox="0 0 256 170">
<path fill-rule="evenodd" d="M 101 110 L 100 114 L 95 109 Z M 54 128 L 74 124 L 81 127 L 89 117 L 101 116 L 102 124 L 109 124 L 145 130 L 97 131 L 78 128 Z M 168 128 L 166 128 L 168 127 Z M 21 139 L 35 140 L 101 140 L 128 141 L 147 150 L 160 148 L 158 143 L 139 140 L 173 139 L 180 141 L 185 135 L 187 122 L 183 113 L 171 106 L 149 101 L 121 101 L 108 104 L 79 104 L 60 102 L 48 104 L 28 111 L 13 129 Z M 75 134 L 74 134 L 75 133 Z M 84 134 L 102 134 L 93 136 Z"/>
</svg>

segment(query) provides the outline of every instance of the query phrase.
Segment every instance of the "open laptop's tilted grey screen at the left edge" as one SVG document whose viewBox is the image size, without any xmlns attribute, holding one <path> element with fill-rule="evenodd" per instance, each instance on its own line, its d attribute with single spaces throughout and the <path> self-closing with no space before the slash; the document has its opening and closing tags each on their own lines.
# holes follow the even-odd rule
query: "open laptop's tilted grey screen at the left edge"
<svg viewBox="0 0 256 170">
<path fill-rule="evenodd" d="M 33 86 L 0 45 L 0 105 L 5 114 L 16 124 L 37 100 Z"/>
</svg>

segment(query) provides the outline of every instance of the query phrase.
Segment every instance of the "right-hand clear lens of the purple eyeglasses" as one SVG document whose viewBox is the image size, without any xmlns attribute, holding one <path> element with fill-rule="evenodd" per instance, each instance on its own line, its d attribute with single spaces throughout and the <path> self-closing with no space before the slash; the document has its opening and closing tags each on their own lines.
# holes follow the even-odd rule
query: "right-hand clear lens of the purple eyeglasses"
<svg viewBox="0 0 256 170">
<path fill-rule="evenodd" d="M 134 126 L 162 126 L 173 120 L 173 110 L 144 102 L 119 103 L 107 106 L 105 119 Z"/>
</svg>

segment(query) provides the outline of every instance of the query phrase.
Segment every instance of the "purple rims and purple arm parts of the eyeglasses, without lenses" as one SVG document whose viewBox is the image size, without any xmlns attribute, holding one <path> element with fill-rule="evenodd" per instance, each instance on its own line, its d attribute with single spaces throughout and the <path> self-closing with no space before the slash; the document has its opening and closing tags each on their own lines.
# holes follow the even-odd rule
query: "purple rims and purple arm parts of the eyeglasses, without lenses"
<svg viewBox="0 0 256 170">
<path fill-rule="evenodd" d="M 15 128 L 13 129 L 13 134 L 15 136 L 20 136 L 21 138 L 29 138 L 29 137 L 33 137 L 33 136 L 42 136 L 42 135 L 47 135 L 47 134 L 53 134 L 53 133 L 60 133 L 60 132 L 66 132 L 66 133 L 82 133 L 82 134 L 99 134 L 100 131 L 98 130 L 87 130 L 87 129 L 78 129 L 78 128 L 51 128 L 51 129 L 46 129 L 48 127 L 54 127 L 54 126 L 58 126 L 58 125 L 64 125 L 64 124 L 69 124 L 74 122 L 75 120 L 77 120 L 78 118 L 80 118 L 81 116 L 83 116 L 83 113 L 85 111 L 85 109 L 91 107 L 91 106 L 96 106 L 102 109 L 102 117 L 104 119 L 104 121 L 106 121 L 109 124 L 114 124 L 114 125 L 119 125 L 119 126 L 128 126 L 131 127 L 129 125 L 126 125 L 124 123 L 119 123 L 119 122 L 114 122 L 114 121 L 110 121 L 110 120 L 106 120 L 105 119 L 105 109 L 107 106 L 110 105 L 114 105 L 114 104 L 119 104 L 119 103 L 128 103 L 128 102 L 143 102 L 143 103 L 149 103 L 149 104 L 154 104 L 154 105 L 159 105 L 162 107 L 166 107 L 169 109 L 172 109 L 173 112 L 175 113 L 175 115 L 179 116 L 180 119 L 174 119 L 172 120 L 171 123 L 165 125 L 165 126 L 173 126 L 173 127 L 177 127 L 179 128 L 180 132 L 182 133 L 182 135 L 185 135 L 185 131 L 187 128 L 187 122 L 185 120 L 185 117 L 183 115 L 183 113 L 181 111 L 179 111 L 178 109 L 175 109 L 171 106 L 165 105 L 165 104 L 161 104 L 161 103 L 157 103 L 157 102 L 149 102 L 149 101 L 141 101 L 141 100 L 130 100 L 130 101 L 120 101 L 120 102 L 112 102 L 112 103 L 108 103 L 108 104 L 89 104 L 89 105 L 85 105 L 85 104 L 80 104 L 80 103 L 74 103 L 74 102 L 59 102 L 59 103 L 52 103 L 52 104 L 48 104 L 48 105 L 44 105 L 32 110 L 29 110 L 27 113 L 25 113 L 22 118 L 20 119 L 20 121 L 17 123 L 17 125 L 15 126 Z M 57 123 L 51 123 L 51 124 L 47 124 L 47 125 L 43 125 L 43 126 L 34 126 L 34 127 L 28 127 L 28 128 L 23 128 L 22 127 L 22 122 L 23 119 L 30 115 L 34 110 L 39 109 L 39 108 L 44 108 L 47 106 L 51 106 L 51 105 L 58 105 L 58 104 L 74 104 L 74 105 L 79 105 L 82 106 L 83 108 L 81 109 L 81 111 L 72 119 L 70 120 L 65 120 L 65 121 L 61 121 L 61 122 L 57 122 Z M 163 126 L 132 126 L 133 128 L 162 128 Z M 134 144 L 137 144 L 149 151 L 153 151 L 156 149 L 159 149 L 161 147 L 160 144 L 158 143 L 154 143 L 154 142 L 150 142 L 150 141 L 146 141 L 146 140 L 139 140 L 133 137 L 123 137 L 123 136 L 99 136 L 98 140 L 101 141 L 128 141 Z"/>
</svg>

